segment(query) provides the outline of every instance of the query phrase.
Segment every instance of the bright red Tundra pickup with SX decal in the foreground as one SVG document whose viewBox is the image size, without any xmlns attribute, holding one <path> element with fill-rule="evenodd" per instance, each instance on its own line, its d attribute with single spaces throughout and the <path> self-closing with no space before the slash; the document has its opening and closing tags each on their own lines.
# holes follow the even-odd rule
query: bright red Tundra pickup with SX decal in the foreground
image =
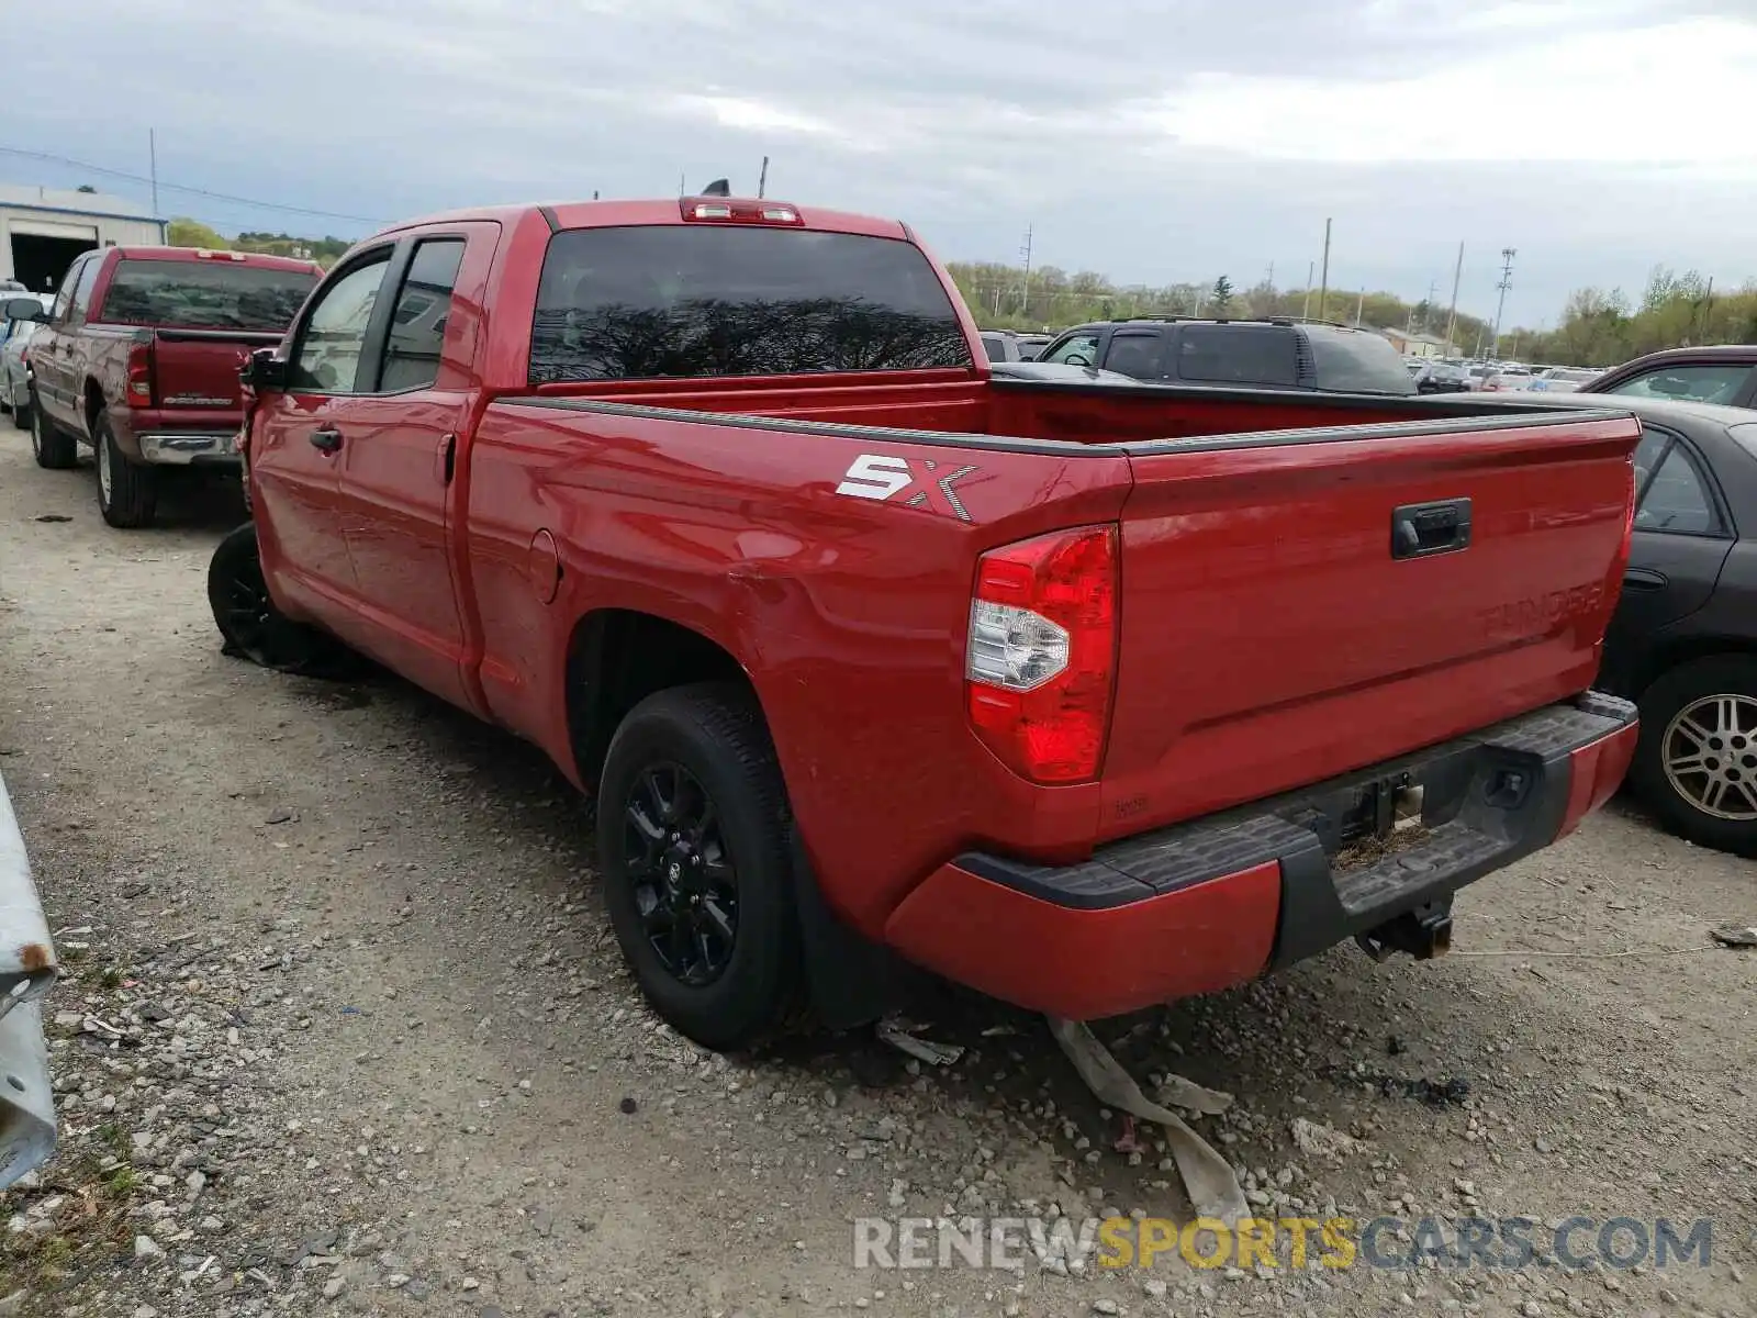
<svg viewBox="0 0 1757 1318">
<path fill-rule="evenodd" d="M 1430 956 L 1634 747 L 1588 691 L 1629 415 L 993 378 L 891 220 L 422 220 L 246 383 L 228 648 L 339 640 L 543 747 L 713 1047 L 910 968 L 1095 1017 Z"/>
</svg>

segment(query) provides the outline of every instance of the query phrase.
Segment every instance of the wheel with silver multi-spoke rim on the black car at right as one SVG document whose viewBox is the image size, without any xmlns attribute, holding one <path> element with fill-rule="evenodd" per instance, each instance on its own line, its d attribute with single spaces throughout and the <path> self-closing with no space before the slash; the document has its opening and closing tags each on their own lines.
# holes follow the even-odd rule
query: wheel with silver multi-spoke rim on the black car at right
<svg viewBox="0 0 1757 1318">
<path fill-rule="evenodd" d="M 1757 657 L 1696 659 L 1653 682 L 1630 777 L 1673 833 L 1757 858 Z"/>
</svg>

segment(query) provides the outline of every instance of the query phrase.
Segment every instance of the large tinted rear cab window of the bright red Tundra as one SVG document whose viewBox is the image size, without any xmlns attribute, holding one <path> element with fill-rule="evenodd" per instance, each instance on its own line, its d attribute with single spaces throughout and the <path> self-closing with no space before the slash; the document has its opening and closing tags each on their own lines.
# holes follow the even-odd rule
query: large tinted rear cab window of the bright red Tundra
<svg viewBox="0 0 1757 1318">
<path fill-rule="evenodd" d="M 799 228 L 555 234 L 531 327 L 532 385 L 972 364 L 917 248 Z"/>
</svg>

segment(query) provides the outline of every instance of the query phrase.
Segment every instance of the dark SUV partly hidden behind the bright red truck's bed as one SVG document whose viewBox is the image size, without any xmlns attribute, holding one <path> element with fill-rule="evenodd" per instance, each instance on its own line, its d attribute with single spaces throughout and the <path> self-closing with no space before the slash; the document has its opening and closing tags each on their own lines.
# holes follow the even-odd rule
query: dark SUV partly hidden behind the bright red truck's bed
<svg viewBox="0 0 1757 1318">
<path fill-rule="evenodd" d="M 1156 385 L 1414 394 L 1379 334 L 1300 320 L 1154 316 L 1075 325 L 1037 358 L 1117 371 Z"/>
</svg>

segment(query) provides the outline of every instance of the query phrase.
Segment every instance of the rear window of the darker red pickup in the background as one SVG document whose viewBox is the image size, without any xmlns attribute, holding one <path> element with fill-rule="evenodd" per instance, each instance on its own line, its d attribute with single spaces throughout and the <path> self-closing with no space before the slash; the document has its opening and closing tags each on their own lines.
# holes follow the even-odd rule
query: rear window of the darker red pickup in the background
<svg viewBox="0 0 1757 1318">
<path fill-rule="evenodd" d="M 316 283 L 318 276 L 307 271 L 271 271 L 232 260 L 123 260 L 111 276 L 98 320 L 285 330 Z"/>
</svg>

